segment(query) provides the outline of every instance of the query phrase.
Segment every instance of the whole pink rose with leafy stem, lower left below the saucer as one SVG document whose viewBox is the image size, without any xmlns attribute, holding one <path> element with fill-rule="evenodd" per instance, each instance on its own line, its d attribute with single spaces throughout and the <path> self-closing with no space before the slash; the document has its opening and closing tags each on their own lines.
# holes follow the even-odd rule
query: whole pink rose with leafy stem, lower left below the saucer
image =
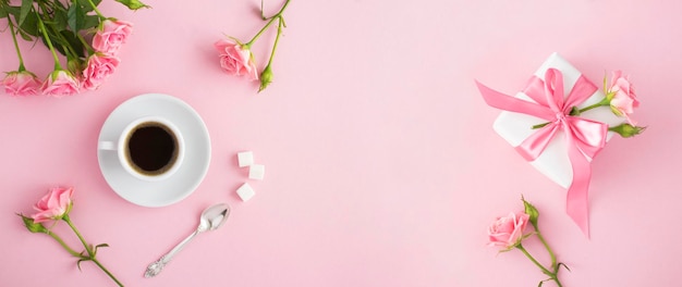
<svg viewBox="0 0 682 287">
<path fill-rule="evenodd" d="M 121 282 L 119 282 L 117 277 L 113 276 L 113 274 L 111 274 L 111 272 L 109 272 L 109 270 L 107 270 L 105 265 L 102 265 L 99 262 L 99 260 L 96 258 L 98 249 L 101 247 L 108 247 L 109 245 L 101 244 L 101 245 L 93 246 L 93 245 L 87 244 L 85 239 L 83 238 L 83 236 L 81 235 L 81 233 L 78 232 L 78 229 L 76 229 L 75 225 L 71 221 L 69 213 L 71 212 L 71 209 L 73 208 L 72 197 L 73 197 L 72 187 L 51 188 L 50 190 L 48 190 L 47 195 L 45 195 L 40 199 L 40 201 L 38 201 L 34 205 L 36 213 L 32 214 L 31 216 L 26 216 L 21 213 L 19 213 L 17 215 L 22 217 L 22 221 L 24 222 L 24 226 L 26 226 L 26 228 L 29 232 L 49 235 L 54 240 L 57 240 L 57 242 L 59 242 L 59 245 L 61 245 L 66 250 L 66 252 L 77 258 L 78 261 L 76 262 L 76 265 L 78 266 L 78 270 L 81 269 L 81 262 L 92 261 L 97 266 L 99 266 L 105 273 L 107 273 L 107 275 L 109 275 L 109 277 L 113 279 L 119 286 L 123 286 L 123 284 L 121 284 Z M 64 242 L 64 240 L 62 240 L 61 237 L 59 237 L 56 233 L 50 230 L 51 227 L 53 227 L 59 221 L 63 221 L 69 225 L 69 227 L 73 230 L 76 237 L 78 237 L 78 240 L 83 244 L 83 247 L 85 248 L 85 250 L 81 252 L 75 251 L 73 248 L 66 245 L 66 242 Z M 44 223 L 48 223 L 49 225 L 46 226 L 44 225 Z"/>
</svg>

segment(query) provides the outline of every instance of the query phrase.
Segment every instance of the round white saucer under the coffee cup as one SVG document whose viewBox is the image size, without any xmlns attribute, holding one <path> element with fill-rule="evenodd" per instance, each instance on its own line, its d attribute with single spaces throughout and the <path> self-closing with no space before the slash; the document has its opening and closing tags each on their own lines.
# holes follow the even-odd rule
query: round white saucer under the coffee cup
<svg viewBox="0 0 682 287">
<path fill-rule="evenodd" d="M 165 207 L 190 196 L 202 183 L 210 163 L 210 138 L 202 117 L 184 101 L 162 93 L 145 93 L 117 107 L 99 133 L 99 141 L 117 141 L 125 125 L 135 118 L 157 115 L 171 121 L 185 140 L 180 169 L 160 182 L 138 179 L 123 170 L 115 151 L 98 150 L 105 179 L 123 199 L 143 207 Z"/>
</svg>

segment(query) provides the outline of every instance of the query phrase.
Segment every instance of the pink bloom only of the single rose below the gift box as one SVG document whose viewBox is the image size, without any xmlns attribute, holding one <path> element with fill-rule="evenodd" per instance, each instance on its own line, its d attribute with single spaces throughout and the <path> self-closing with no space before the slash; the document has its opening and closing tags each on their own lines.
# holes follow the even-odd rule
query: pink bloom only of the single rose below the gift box
<svg viewBox="0 0 682 287">
<path fill-rule="evenodd" d="M 490 246 L 503 247 L 511 249 L 521 242 L 523 232 L 528 224 L 528 214 L 509 213 L 507 217 L 498 217 L 490 227 L 488 227 L 488 239 Z"/>
</svg>

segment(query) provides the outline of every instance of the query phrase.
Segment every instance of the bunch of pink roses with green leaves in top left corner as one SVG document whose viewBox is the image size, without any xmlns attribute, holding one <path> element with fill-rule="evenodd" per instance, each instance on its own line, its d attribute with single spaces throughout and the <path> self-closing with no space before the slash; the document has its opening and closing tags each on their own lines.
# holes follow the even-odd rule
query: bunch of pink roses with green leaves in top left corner
<svg viewBox="0 0 682 287">
<path fill-rule="evenodd" d="M 131 10 L 148 8 L 138 0 L 115 0 Z M 132 32 L 132 24 L 105 16 L 101 0 L 0 0 L 0 18 L 7 18 L 19 68 L 0 82 L 7 93 L 44 93 L 62 97 L 97 89 L 121 60 L 117 53 Z M 54 68 L 44 80 L 26 68 L 17 37 L 41 41 L 49 49 Z M 65 67 L 62 59 L 65 58 Z"/>
</svg>

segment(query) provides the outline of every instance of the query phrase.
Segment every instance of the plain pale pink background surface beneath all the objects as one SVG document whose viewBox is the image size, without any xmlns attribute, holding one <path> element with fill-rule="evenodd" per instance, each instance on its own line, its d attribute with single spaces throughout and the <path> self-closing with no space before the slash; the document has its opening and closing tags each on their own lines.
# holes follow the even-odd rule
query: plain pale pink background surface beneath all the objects
<svg viewBox="0 0 682 287">
<path fill-rule="evenodd" d="M 545 276 L 523 254 L 486 246 L 489 223 L 520 210 L 522 194 L 572 270 L 560 274 L 564 286 L 679 283 L 679 1 L 293 0 L 275 83 L 261 93 L 222 73 L 212 48 L 223 34 L 257 32 L 259 1 L 146 2 L 154 9 L 101 4 L 135 30 L 99 90 L 0 97 L 3 286 L 113 286 L 14 215 L 57 185 L 75 187 L 73 221 L 88 241 L 111 246 L 98 258 L 127 286 L 536 286 Z M 10 35 L 1 38 L 0 70 L 14 70 Z M 254 46 L 260 67 L 272 39 Z M 26 51 L 33 72 L 51 71 L 40 43 Z M 499 111 L 474 85 L 515 92 L 555 51 L 597 84 L 606 71 L 631 74 L 635 117 L 649 126 L 613 138 L 594 161 L 590 239 L 564 214 L 565 191 L 494 133 Z M 97 163 L 108 114 L 146 92 L 193 105 L 211 137 L 204 182 L 165 208 L 121 199 Z M 247 180 L 242 150 L 266 165 L 265 180 L 248 180 L 248 202 L 235 195 Z M 143 277 L 221 201 L 233 209 L 223 227 Z M 76 246 L 65 227 L 54 229 Z M 539 242 L 526 247 L 547 261 Z"/>
</svg>

